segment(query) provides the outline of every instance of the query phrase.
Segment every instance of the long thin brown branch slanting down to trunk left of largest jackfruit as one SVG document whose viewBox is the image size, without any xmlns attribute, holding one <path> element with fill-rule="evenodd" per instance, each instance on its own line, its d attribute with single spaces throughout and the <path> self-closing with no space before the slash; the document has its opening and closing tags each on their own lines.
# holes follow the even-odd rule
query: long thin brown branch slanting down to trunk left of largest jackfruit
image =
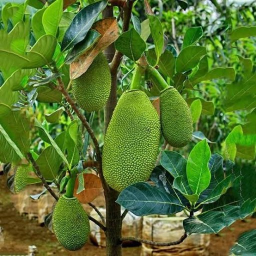
<svg viewBox="0 0 256 256">
<path fill-rule="evenodd" d="M 54 70 L 55 72 L 57 72 L 57 70 Z M 80 112 L 79 108 L 76 106 L 76 104 L 74 103 L 73 99 L 70 97 L 70 95 L 68 94 L 68 92 L 65 90 L 63 81 L 61 79 L 61 77 L 57 78 L 57 82 L 58 82 L 58 90 L 63 94 L 63 96 L 65 97 L 65 100 L 71 105 L 72 109 L 74 110 L 74 112 L 76 113 L 76 115 L 78 116 L 78 118 L 81 120 L 83 126 L 86 128 L 86 130 L 88 131 L 91 140 L 95 146 L 95 152 L 96 152 L 96 157 L 97 157 L 97 161 L 98 161 L 98 174 L 100 177 L 100 180 L 102 182 L 102 186 L 105 189 L 109 189 L 107 183 L 105 182 L 104 176 L 103 176 L 103 171 L 102 171 L 102 158 L 101 158 L 101 153 L 100 153 L 100 149 L 99 149 L 99 144 L 97 141 L 97 138 L 93 132 L 93 130 L 91 129 L 88 121 L 86 120 L 85 116 Z"/>
</svg>

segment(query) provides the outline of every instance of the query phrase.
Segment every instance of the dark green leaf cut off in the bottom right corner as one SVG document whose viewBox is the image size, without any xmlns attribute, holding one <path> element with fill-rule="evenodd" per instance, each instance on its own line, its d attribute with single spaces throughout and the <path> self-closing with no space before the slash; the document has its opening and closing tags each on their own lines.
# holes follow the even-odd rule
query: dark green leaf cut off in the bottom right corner
<svg viewBox="0 0 256 256">
<path fill-rule="evenodd" d="M 255 255 L 256 254 L 256 229 L 243 232 L 237 242 L 230 248 L 230 255 Z"/>
</svg>

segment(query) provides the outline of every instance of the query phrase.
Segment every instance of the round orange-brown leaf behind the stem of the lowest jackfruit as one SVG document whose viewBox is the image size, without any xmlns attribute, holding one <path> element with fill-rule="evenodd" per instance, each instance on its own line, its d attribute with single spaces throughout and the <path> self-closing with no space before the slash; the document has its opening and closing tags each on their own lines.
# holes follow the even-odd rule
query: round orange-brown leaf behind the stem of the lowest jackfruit
<svg viewBox="0 0 256 256">
<path fill-rule="evenodd" d="M 78 188 L 78 179 L 76 178 L 74 184 L 74 196 L 81 203 L 88 203 L 93 201 L 102 191 L 102 184 L 100 178 L 92 173 L 83 174 L 84 190 L 76 194 Z"/>
</svg>

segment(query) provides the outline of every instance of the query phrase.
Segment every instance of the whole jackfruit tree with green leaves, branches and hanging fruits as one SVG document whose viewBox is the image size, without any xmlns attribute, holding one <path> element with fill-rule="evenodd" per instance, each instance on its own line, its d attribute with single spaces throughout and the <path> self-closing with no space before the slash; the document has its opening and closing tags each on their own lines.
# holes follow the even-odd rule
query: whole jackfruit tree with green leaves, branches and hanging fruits
<svg viewBox="0 0 256 256">
<path fill-rule="evenodd" d="M 67 250 L 85 245 L 89 221 L 103 230 L 106 255 L 120 256 L 126 240 L 175 245 L 193 233 L 218 233 L 256 209 L 252 61 L 239 55 L 242 74 L 232 63 L 212 64 L 201 26 L 178 41 L 149 3 L 25 0 L 1 8 L 0 161 L 11 192 L 41 184 L 41 194 L 54 197 L 45 224 Z M 186 6 L 173 1 L 172 8 Z M 223 24 L 221 41 L 234 59 L 242 38 L 256 33 L 231 23 Z M 232 129 L 211 141 L 220 129 L 216 115 L 231 118 Z M 91 203 L 101 190 L 105 216 Z M 184 233 L 169 242 L 123 237 L 128 211 L 183 212 Z"/>
</svg>

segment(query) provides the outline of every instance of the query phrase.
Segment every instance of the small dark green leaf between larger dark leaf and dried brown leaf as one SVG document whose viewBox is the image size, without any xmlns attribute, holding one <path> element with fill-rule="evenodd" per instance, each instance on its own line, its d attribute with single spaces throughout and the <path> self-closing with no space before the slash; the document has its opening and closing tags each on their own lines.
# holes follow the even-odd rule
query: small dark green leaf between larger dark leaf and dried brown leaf
<svg viewBox="0 0 256 256">
<path fill-rule="evenodd" d="M 99 39 L 100 33 L 96 30 L 89 30 L 85 38 L 77 43 L 67 54 L 65 63 L 70 64 L 78 58 L 83 52 L 88 50 Z"/>
</svg>

